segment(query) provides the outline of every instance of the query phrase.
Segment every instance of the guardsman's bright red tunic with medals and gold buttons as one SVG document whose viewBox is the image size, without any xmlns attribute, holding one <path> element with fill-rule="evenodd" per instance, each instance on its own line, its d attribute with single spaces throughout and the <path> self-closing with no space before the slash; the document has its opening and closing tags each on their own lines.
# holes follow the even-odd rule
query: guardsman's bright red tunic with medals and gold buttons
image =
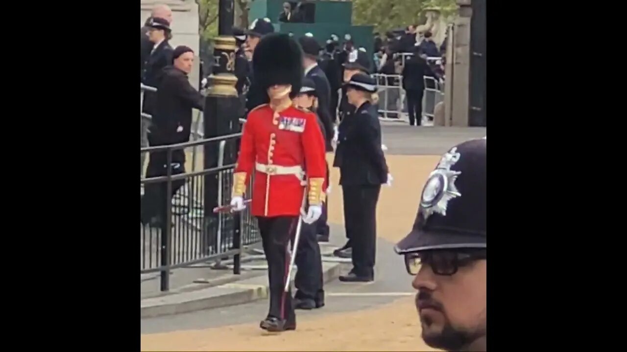
<svg viewBox="0 0 627 352">
<path fill-rule="evenodd" d="M 295 106 L 275 113 L 267 104 L 251 110 L 244 125 L 240 155 L 235 166 L 235 173 L 246 173 L 246 184 L 251 172 L 255 172 L 253 215 L 298 216 L 306 195 L 306 180 L 303 175 L 299 179 L 294 174 L 268 175 L 256 170 L 264 168 L 268 171 L 272 167 L 282 168 L 283 172 L 302 167 L 307 180 L 323 180 L 321 184 L 312 185 L 310 191 L 324 192 L 327 187 L 325 142 L 314 113 Z"/>
</svg>

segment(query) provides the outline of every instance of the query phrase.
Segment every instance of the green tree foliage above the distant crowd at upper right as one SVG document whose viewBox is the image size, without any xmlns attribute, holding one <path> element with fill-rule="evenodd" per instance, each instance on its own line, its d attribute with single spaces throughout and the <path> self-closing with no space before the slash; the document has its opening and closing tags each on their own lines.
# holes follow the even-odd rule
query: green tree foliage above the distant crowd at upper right
<svg viewBox="0 0 627 352">
<path fill-rule="evenodd" d="M 352 0 L 352 23 L 385 33 L 425 22 L 424 9 L 440 8 L 443 18 L 455 13 L 455 0 Z"/>
</svg>

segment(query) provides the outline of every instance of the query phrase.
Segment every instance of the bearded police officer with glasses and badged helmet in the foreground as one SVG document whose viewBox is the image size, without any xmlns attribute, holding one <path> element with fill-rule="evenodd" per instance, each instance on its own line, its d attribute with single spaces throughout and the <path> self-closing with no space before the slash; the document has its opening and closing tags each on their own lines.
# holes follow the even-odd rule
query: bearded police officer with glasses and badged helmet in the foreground
<svg viewBox="0 0 627 352">
<path fill-rule="evenodd" d="M 422 338 L 446 351 L 485 351 L 487 338 L 487 138 L 460 143 L 431 172 L 405 257 Z"/>
</svg>

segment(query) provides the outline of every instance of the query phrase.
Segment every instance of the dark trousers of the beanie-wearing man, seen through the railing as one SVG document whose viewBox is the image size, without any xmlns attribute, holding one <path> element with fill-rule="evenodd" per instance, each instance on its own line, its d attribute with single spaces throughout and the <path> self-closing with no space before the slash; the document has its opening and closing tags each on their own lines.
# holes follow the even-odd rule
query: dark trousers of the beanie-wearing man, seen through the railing
<svg viewBox="0 0 627 352">
<path fill-rule="evenodd" d="M 150 159 L 146 170 L 146 178 L 167 175 L 167 152 L 150 153 Z M 172 151 L 172 175 L 185 172 L 185 153 L 182 150 Z M 167 207 L 172 204 L 172 196 L 185 184 L 185 180 L 172 181 L 172 192 L 167 194 L 167 180 L 145 184 L 144 197 L 140 200 L 140 221 L 148 224 L 154 217 L 157 223 L 166 223 Z"/>
</svg>

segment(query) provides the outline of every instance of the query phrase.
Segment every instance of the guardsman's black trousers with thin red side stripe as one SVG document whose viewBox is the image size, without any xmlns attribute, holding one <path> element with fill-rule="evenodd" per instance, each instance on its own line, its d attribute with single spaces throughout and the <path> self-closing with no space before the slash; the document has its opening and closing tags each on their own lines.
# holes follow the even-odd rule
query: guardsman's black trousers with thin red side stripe
<svg viewBox="0 0 627 352">
<path fill-rule="evenodd" d="M 263 252 L 268 262 L 268 282 L 270 284 L 270 309 L 268 317 L 296 322 L 292 306 L 292 291 L 283 291 L 290 266 L 288 246 L 295 235 L 298 217 L 257 217 Z M 297 257 L 298 258 L 298 257 Z"/>
</svg>

